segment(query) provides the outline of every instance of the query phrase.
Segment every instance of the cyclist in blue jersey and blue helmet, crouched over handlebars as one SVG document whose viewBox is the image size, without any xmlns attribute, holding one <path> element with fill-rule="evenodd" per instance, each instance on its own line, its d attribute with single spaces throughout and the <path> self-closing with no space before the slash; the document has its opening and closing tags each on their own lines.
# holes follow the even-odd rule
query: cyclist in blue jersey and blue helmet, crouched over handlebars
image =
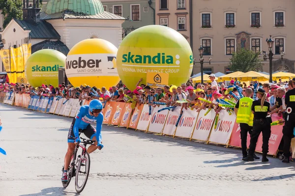
<svg viewBox="0 0 295 196">
<path fill-rule="evenodd" d="M 87 152 L 90 154 L 96 149 L 101 150 L 101 128 L 103 122 L 102 103 L 93 99 L 89 105 L 83 105 L 77 116 L 73 119 L 70 130 L 68 132 L 68 149 L 64 157 L 64 170 L 61 177 L 62 182 L 67 182 L 67 168 L 70 165 L 71 156 L 75 150 L 77 142 L 81 142 L 79 132 L 83 132 L 89 139 L 95 140 L 96 146 L 89 146 Z M 96 130 L 90 125 L 96 122 Z"/>
</svg>

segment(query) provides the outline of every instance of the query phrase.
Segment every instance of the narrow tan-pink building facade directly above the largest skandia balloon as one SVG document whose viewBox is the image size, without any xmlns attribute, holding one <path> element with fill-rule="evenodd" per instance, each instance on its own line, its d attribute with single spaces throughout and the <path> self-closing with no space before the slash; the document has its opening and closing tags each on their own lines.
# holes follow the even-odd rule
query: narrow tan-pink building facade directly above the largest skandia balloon
<svg viewBox="0 0 295 196">
<path fill-rule="evenodd" d="M 191 0 L 156 0 L 156 24 L 176 30 L 189 43 L 191 42 L 190 3 Z"/>
</svg>

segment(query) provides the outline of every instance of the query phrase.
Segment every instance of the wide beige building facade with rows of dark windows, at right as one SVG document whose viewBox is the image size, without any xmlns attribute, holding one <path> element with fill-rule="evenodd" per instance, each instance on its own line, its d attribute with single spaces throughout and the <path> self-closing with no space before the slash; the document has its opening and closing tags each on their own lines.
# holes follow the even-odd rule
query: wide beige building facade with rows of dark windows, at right
<svg viewBox="0 0 295 196">
<path fill-rule="evenodd" d="M 295 71 L 295 8 L 294 0 L 193 0 L 193 72 L 201 71 L 198 48 L 204 47 L 205 73 L 227 73 L 232 53 L 239 48 L 267 51 L 266 38 L 275 41 L 272 72 Z M 281 60 L 280 51 L 285 52 Z M 263 59 L 263 56 L 261 56 Z M 268 60 L 262 70 L 269 72 Z"/>
</svg>

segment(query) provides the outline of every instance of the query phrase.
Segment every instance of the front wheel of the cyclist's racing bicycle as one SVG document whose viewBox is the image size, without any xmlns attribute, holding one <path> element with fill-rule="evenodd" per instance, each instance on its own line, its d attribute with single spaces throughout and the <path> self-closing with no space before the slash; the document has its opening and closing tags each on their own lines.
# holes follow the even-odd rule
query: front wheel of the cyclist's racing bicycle
<svg viewBox="0 0 295 196">
<path fill-rule="evenodd" d="M 75 188 L 77 193 L 81 193 L 85 188 L 90 170 L 90 156 L 88 152 L 80 159 L 76 169 Z"/>
</svg>

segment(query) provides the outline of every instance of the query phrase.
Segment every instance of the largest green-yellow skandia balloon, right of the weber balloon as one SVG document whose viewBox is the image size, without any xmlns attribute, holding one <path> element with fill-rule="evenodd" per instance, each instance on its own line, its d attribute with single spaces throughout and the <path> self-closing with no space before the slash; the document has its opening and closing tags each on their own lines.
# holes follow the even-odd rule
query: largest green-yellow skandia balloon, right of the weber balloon
<svg viewBox="0 0 295 196">
<path fill-rule="evenodd" d="M 180 86 L 187 82 L 192 72 L 192 50 L 177 31 L 160 25 L 145 26 L 122 40 L 117 53 L 117 69 L 120 79 L 130 89 L 134 89 L 141 78 L 140 84 L 146 84 L 147 72 L 155 75 L 155 83 L 161 80 L 158 77 L 161 74 L 157 76 L 157 73 L 168 73 L 168 85 Z"/>
</svg>

